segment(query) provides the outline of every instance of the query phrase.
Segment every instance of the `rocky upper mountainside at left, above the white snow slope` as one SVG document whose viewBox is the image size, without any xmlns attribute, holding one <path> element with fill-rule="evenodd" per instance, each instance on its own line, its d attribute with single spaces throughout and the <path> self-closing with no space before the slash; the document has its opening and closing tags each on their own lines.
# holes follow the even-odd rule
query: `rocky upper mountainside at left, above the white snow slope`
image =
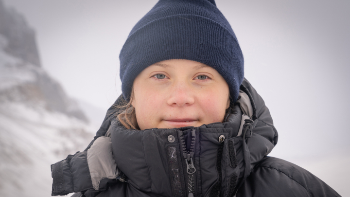
<svg viewBox="0 0 350 197">
<path fill-rule="evenodd" d="M 76 102 L 41 68 L 34 30 L 1 0 L 0 53 L 0 102 L 26 102 L 88 122 Z"/>
</svg>

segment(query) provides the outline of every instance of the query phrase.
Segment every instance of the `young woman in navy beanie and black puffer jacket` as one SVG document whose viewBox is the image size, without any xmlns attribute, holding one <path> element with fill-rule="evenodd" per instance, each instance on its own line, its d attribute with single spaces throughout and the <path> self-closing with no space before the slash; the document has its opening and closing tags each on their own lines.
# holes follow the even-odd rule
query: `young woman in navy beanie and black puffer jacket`
<svg viewBox="0 0 350 197">
<path fill-rule="evenodd" d="M 278 134 L 214 0 L 159 0 L 120 62 L 123 95 L 85 151 L 52 165 L 53 196 L 339 196 L 266 156 Z"/>
</svg>

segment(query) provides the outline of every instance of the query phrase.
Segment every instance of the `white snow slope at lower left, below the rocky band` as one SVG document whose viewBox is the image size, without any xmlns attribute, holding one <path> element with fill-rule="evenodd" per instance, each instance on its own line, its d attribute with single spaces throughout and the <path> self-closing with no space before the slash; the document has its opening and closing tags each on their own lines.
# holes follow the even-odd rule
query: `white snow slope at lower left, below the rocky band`
<svg viewBox="0 0 350 197">
<path fill-rule="evenodd" d="M 0 105 L 0 196 L 51 196 L 50 165 L 83 151 L 95 130 L 67 115 Z"/>
</svg>

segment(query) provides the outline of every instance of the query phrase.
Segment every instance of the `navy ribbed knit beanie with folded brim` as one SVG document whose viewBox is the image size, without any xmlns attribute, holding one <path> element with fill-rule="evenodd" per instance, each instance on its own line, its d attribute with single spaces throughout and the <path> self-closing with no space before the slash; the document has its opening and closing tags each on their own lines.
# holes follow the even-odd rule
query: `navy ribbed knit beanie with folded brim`
<svg viewBox="0 0 350 197">
<path fill-rule="evenodd" d="M 214 68 L 233 102 L 244 77 L 241 48 L 214 0 L 159 0 L 131 30 L 119 59 L 127 101 L 139 73 L 163 60 L 187 59 Z"/>
</svg>

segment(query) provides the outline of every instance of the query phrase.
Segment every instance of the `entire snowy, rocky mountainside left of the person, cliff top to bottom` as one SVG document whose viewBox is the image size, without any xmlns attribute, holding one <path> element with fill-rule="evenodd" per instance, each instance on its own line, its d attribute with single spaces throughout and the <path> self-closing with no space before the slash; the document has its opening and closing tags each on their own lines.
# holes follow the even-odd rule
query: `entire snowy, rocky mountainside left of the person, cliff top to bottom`
<svg viewBox="0 0 350 197">
<path fill-rule="evenodd" d="M 95 131 L 40 66 L 34 31 L 0 0 L 0 197 L 51 196 L 50 165 Z"/>
</svg>

